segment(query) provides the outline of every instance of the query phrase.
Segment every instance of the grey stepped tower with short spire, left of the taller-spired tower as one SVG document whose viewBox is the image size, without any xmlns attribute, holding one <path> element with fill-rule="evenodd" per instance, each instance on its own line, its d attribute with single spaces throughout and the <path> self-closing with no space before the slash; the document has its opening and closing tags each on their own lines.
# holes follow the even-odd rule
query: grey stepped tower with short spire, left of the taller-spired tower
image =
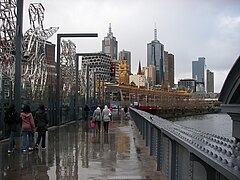
<svg viewBox="0 0 240 180">
<path fill-rule="evenodd" d="M 112 60 L 117 59 L 118 42 L 113 36 L 111 23 L 109 24 L 109 32 L 107 37 L 104 37 L 104 40 L 102 40 L 102 52 L 110 55 Z"/>
</svg>

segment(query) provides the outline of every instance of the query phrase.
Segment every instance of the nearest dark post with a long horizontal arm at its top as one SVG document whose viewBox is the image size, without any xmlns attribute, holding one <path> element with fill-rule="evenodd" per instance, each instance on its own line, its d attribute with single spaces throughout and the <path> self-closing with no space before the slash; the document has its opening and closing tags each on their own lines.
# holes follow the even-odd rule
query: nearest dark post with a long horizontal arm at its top
<svg viewBox="0 0 240 180">
<path fill-rule="evenodd" d="M 60 125 L 62 121 L 62 116 L 60 112 L 60 44 L 61 38 L 82 38 L 82 37 L 98 37 L 97 33 L 66 33 L 66 34 L 57 34 L 57 83 L 56 83 L 56 122 L 54 125 Z M 78 72 L 78 67 L 76 67 L 76 71 Z M 78 79 L 78 78 L 77 78 Z M 76 81 L 77 81 L 76 79 Z M 77 82 L 76 82 L 77 83 Z"/>
</svg>

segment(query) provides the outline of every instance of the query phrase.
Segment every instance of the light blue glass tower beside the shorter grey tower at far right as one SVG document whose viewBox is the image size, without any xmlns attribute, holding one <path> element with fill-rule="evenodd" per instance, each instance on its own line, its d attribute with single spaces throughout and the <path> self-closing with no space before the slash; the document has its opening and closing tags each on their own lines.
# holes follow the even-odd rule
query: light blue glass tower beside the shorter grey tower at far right
<svg viewBox="0 0 240 180">
<path fill-rule="evenodd" d="M 205 90 L 205 57 L 199 57 L 198 61 L 192 61 L 192 78 L 197 81 L 197 86 Z"/>
</svg>

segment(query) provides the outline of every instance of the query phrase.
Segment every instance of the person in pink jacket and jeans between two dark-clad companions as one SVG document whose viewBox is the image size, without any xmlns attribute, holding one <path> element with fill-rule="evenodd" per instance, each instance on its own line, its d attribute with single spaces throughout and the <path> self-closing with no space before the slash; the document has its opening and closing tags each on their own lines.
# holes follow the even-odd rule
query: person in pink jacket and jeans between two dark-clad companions
<svg viewBox="0 0 240 180">
<path fill-rule="evenodd" d="M 31 109 L 28 105 L 23 106 L 23 110 L 20 113 L 20 118 L 22 121 L 22 150 L 26 152 L 27 150 L 32 151 L 33 142 L 33 132 L 35 130 L 35 123 L 31 113 Z"/>
</svg>

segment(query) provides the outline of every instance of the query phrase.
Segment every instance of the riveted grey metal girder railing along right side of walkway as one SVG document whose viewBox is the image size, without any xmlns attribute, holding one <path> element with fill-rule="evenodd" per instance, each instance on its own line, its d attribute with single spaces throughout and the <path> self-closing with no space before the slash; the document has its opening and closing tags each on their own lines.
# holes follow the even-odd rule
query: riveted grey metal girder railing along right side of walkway
<svg viewBox="0 0 240 180">
<path fill-rule="evenodd" d="M 134 108 L 130 114 L 167 179 L 240 179 L 240 143 Z"/>
</svg>

